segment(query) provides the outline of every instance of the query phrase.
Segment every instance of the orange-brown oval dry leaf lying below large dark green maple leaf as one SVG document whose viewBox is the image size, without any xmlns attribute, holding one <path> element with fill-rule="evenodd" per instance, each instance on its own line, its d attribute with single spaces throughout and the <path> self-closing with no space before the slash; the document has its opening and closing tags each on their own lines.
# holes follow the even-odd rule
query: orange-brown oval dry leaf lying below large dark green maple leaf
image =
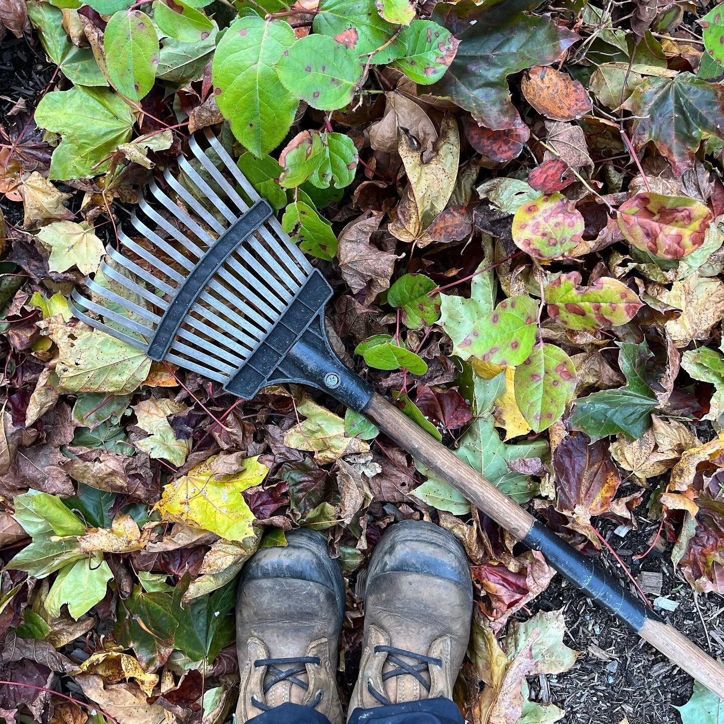
<svg viewBox="0 0 724 724">
<path fill-rule="evenodd" d="M 573 121 L 591 110 L 586 89 L 568 73 L 536 65 L 523 75 L 521 90 L 526 101 L 554 121 Z"/>
</svg>

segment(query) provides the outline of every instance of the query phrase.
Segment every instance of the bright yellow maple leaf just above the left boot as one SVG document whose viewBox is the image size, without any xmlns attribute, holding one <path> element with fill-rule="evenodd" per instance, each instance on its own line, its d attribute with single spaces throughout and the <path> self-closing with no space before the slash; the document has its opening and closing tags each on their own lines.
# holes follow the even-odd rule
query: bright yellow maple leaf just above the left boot
<svg viewBox="0 0 724 724">
<path fill-rule="evenodd" d="M 254 535 L 254 514 L 242 492 L 261 484 L 269 471 L 255 458 L 245 461 L 243 471 L 214 475 L 216 455 L 195 466 L 188 474 L 164 486 L 164 494 L 153 510 L 164 521 L 184 523 L 216 533 L 229 541 L 242 542 Z"/>
</svg>

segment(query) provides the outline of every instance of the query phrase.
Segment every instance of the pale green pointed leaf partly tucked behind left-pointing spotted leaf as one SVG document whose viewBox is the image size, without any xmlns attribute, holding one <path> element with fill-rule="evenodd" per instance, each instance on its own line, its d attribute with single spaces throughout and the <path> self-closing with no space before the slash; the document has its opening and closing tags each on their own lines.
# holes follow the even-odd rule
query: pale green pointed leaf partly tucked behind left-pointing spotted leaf
<svg viewBox="0 0 724 724">
<path fill-rule="evenodd" d="M 494 270 L 488 269 L 492 265 L 492 244 L 484 244 L 484 257 L 476 269 L 475 276 L 470 283 L 470 298 L 466 299 L 453 294 L 440 295 L 439 325 L 445 334 L 452 340 L 452 353 L 463 360 L 471 353 L 460 349 L 460 342 L 470 337 L 475 324 L 491 312 L 495 303 L 495 276 Z M 483 271 L 488 269 L 488 271 Z"/>
</svg>

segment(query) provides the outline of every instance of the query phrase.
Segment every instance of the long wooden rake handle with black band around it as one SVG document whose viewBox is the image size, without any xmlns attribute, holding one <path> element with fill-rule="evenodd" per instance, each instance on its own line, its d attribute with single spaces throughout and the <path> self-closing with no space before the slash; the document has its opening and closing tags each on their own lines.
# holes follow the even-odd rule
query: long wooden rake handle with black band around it
<svg viewBox="0 0 724 724">
<path fill-rule="evenodd" d="M 462 463 L 445 445 L 429 436 L 395 405 L 374 393 L 363 409 L 379 429 L 417 460 L 463 494 L 476 508 L 521 542 L 539 550 L 547 562 L 571 583 L 589 594 L 619 620 L 631 626 L 668 659 L 724 699 L 724 668 L 686 636 L 634 599 L 620 582 L 581 555 L 563 539 Z"/>
</svg>

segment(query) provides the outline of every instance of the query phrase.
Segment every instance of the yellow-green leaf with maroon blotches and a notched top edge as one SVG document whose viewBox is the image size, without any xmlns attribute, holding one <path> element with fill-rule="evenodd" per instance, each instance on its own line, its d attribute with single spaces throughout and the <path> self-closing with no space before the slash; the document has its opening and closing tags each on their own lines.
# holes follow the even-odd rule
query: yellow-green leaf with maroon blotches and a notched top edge
<svg viewBox="0 0 724 724">
<path fill-rule="evenodd" d="M 568 329 L 605 329 L 626 324 L 641 308 L 641 300 L 623 282 L 610 277 L 581 287 L 581 274 L 560 274 L 545 287 L 551 319 Z"/>
</svg>

